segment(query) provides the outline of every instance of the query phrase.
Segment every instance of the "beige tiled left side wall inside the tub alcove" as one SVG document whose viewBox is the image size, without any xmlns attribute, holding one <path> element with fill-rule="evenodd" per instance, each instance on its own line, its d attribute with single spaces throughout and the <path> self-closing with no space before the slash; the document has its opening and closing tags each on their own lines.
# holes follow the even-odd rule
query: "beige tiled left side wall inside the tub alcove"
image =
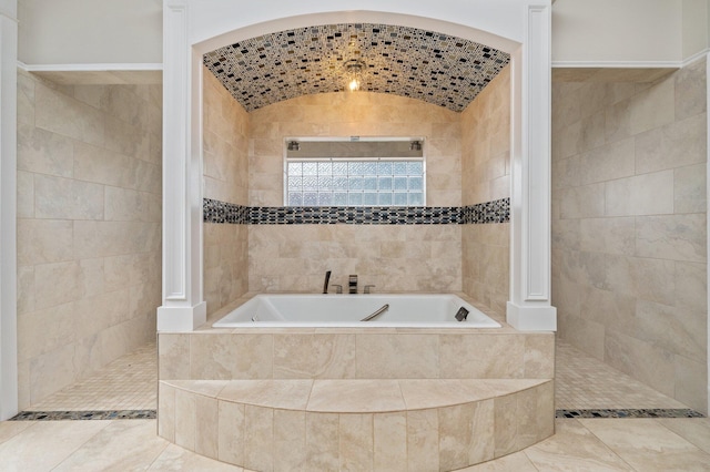
<svg viewBox="0 0 710 472">
<path fill-rule="evenodd" d="M 248 114 L 204 69 L 204 196 L 247 204 Z M 204 224 L 204 297 L 212 314 L 247 289 L 248 233 L 244 225 Z"/>
</svg>

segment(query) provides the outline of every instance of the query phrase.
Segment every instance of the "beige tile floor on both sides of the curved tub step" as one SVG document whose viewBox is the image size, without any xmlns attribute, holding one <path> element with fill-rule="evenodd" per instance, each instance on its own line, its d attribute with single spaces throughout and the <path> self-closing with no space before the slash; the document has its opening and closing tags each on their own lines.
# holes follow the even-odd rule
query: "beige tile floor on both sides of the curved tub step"
<svg viewBox="0 0 710 472">
<path fill-rule="evenodd" d="M 683 404 L 558 342 L 558 409 Z M 32 411 L 155 408 L 155 346 L 116 360 Z M 155 434 L 155 420 L 0 422 L 2 471 L 243 471 Z M 710 471 L 707 418 L 557 419 L 554 437 L 466 471 Z"/>
</svg>

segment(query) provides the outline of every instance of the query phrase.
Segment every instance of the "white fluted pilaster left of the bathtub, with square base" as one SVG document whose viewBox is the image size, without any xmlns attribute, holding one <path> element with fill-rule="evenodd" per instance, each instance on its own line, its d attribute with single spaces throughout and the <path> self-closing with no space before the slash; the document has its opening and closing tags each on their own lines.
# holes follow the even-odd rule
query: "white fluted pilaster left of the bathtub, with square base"
<svg viewBox="0 0 710 472">
<path fill-rule="evenodd" d="M 158 330 L 189 331 L 206 318 L 202 300 L 201 150 L 193 148 L 193 58 L 185 0 L 163 3 L 163 305 Z M 199 120 L 199 119 L 197 119 Z"/>
</svg>

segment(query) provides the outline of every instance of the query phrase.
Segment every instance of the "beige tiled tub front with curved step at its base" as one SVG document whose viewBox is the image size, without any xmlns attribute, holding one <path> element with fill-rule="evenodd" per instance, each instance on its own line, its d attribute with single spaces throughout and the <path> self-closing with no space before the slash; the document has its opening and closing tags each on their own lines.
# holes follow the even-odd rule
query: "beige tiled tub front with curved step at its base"
<svg viewBox="0 0 710 472">
<path fill-rule="evenodd" d="M 244 300 L 214 314 L 197 331 L 159 334 L 159 434 L 183 448 L 254 470 L 291 470 L 298 463 L 305 470 L 337 469 L 342 460 L 375 464 L 378 458 L 397 458 L 396 466 L 412 461 L 423 470 L 453 470 L 552 433 L 552 332 L 507 326 L 456 332 L 210 327 Z M 417 384 L 430 394 L 409 389 Z M 372 399 L 358 407 L 362 411 L 327 407 L 345 398 L 339 389 L 354 388 L 362 390 L 358 398 Z M 303 403 L 308 397 L 314 402 Z M 517 408 L 527 413 L 517 414 Z M 224 422 L 227 431 L 220 427 Z M 471 437 L 452 432 L 466 424 L 475 424 L 480 449 L 470 448 Z M 303 435 L 284 435 L 284 429 Z M 329 445 L 308 455 L 311 440 Z M 387 454 L 378 455 L 381 447 Z M 288 455 L 304 451 L 305 456 Z M 425 458 L 416 456 L 424 451 Z M 273 462 L 280 459 L 294 462 Z"/>
</svg>

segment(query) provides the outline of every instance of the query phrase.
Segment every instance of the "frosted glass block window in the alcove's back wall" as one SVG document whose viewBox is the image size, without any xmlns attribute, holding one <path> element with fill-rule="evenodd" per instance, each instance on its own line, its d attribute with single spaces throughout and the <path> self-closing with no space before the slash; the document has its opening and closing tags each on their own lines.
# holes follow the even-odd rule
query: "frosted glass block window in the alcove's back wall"
<svg viewBox="0 0 710 472">
<path fill-rule="evenodd" d="M 286 206 L 424 206 L 424 158 L 286 158 Z"/>
</svg>

